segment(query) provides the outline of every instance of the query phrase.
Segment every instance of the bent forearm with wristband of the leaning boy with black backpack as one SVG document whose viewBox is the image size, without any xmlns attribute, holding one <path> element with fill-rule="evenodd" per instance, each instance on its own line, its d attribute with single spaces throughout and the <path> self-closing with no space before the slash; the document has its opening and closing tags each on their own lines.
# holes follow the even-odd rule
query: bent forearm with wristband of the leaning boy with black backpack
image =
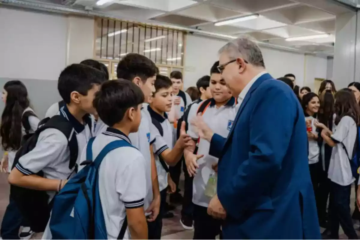
<svg viewBox="0 0 360 240">
<path fill-rule="evenodd" d="M 15 186 L 40 191 L 57 191 L 60 184 L 60 180 L 48 179 L 37 175 L 24 175 L 17 168 L 11 171 L 8 181 Z"/>
</svg>

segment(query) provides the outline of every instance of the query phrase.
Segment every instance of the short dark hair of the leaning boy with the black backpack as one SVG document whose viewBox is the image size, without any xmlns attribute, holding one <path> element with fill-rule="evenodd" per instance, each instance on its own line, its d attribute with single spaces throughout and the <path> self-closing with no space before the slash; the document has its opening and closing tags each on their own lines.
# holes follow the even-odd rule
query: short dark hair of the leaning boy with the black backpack
<svg viewBox="0 0 360 240">
<path fill-rule="evenodd" d="M 71 92 L 77 91 L 86 96 L 94 84 L 101 84 L 107 79 L 103 72 L 84 64 L 71 64 L 59 76 L 58 91 L 66 104 L 70 103 Z"/>
</svg>

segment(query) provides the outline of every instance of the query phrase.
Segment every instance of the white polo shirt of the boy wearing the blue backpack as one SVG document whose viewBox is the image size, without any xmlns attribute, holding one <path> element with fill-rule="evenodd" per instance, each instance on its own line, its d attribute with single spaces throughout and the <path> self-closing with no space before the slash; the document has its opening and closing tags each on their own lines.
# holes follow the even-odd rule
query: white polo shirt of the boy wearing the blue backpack
<svg viewBox="0 0 360 240">
<path fill-rule="evenodd" d="M 93 142 L 93 159 L 110 142 L 127 141 L 129 137 L 115 128 L 107 128 Z M 81 162 L 86 160 L 86 149 L 81 154 Z M 136 148 L 121 147 L 110 151 L 99 167 L 99 195 L 103 208 L 108 239 L 117 239 L 126 209 L 144 206 L 147 192 L 147 160 Z M 124 239 L 131 239 L 129 228 Z"/>
</svg>

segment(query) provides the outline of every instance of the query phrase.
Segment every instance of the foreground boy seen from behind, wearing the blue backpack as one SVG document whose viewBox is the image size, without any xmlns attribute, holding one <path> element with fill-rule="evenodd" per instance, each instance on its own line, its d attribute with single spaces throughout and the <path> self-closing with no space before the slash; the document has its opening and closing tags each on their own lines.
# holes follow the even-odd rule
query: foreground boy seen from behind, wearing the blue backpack
<svg viewBox="0 0 360 240">
<path fill-rule="evenodd" d="M 94 107 L 100 119 L 111 127 L 95 137 L 94 159 L 112 141 L 131 144 L 128 136 L 138 132 L 143 101 L 143 92 L 130 81 L 114 80 L 102 85 L 94 99 Z M 86 149 L 81 159 L 86 160 Z M 130 146 L 110 151 L 100 164 L 99 194 L 108 239 L 117 239 L 126 224 L 123 239 L 148 239 L 144 213 L 148 165 L 140 151 Z"/>
</svg>

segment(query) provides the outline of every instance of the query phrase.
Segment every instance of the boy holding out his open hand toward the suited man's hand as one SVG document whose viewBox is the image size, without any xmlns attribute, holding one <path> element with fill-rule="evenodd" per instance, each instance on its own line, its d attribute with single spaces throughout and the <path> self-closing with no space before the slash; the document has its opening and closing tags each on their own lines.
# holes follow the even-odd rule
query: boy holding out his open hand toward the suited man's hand
<svg viewBox="0 0 360 240">
<path fill-rule="evenodd" d="M 158 75 L 155 81 L 155 92 L 151 99 L 148 111 L 152 118 L 153 126 L 156 128 L 156 141 L 154 142 L 154 156 L 158 173 L 158 182 L 161 195 L 160 214 L 156 220 L 156 239 L 161 237 L 162 217 L 165 213 L 166 193 L 171 177 L 168 174 L 168 166 L 174 166 L 183 155 L 184 148 L 189 144 L 191 138 L 186 135 L 185 122 L 182 123 L 181 133 L 176 143 L 173 143 L 173 127 L 167 119 L 172 105 L 172 82 L 162 75 Z M 173 147 L 174 146 L 174 147 Z M 175 192 L 173 184 L 170 191 Z"/>
</svg>

